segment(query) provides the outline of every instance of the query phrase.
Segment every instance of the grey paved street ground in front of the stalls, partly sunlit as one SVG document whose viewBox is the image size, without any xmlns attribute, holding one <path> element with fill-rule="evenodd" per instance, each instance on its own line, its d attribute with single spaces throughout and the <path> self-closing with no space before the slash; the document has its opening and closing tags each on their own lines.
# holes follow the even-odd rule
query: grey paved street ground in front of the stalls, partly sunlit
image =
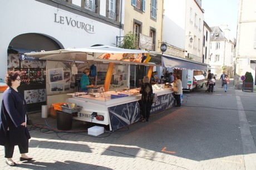
<svg viewBox="0 0 256 170">
<path fill-rule="evenodd" d="M 19 162 L 16 147 L 18 166 L 8 167 L 1 146 L 0 169 L 256 169 L 256 93 L 232 86 L 225 93 L 218 83 L 214 94 L 184 93 L 181 107 L 97 137 L 81 132 L 90 123 L 75 120 L 68 133 L 32 127 L 28 155 L 35 161 Z M 56 129 L 56 119 L 31 118 Z"/>
</svg>

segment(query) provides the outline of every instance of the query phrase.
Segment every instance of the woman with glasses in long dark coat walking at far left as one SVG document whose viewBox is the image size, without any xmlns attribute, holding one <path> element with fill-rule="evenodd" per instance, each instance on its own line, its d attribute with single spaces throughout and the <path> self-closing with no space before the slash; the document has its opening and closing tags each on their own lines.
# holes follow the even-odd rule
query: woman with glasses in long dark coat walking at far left
<svg viewBox="0 0 256 170">
<path fill-rule="evenodd" d="M 9 86 L 3 93 L 0 114 L 0 145 L 4 146 L 4 157 L 9 166 L 17 166 L 12 160 L 14 146 L 18 145 L 20 161 L 31 161 L 28 152 L 28 139 L 31 138 L 26 127 L 26 101 L 18 92 L 21 83 L 19 71 L 8 71 L 6 84 Z"/>
</svg>

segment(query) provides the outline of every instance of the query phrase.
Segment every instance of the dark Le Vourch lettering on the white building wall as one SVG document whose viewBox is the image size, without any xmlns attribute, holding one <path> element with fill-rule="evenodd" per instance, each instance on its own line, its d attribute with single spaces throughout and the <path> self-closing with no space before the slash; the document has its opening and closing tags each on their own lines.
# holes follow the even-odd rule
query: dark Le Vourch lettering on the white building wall
<svg viewBox="0 0 256 170">
<path fill-rule="evenodd" d="M 88 23 L 84 23 L 81 21 L 76 21 L 75 19 L 71 17 L 63 17 L 63 16 L 57 16 L 57 13 L 54 14 L 54 22 L 60 23 L 60 24 L 67 24 L 67 26 L 76 27 L 79 29 L 83 29 L 86 32 L 90 34 L 94 34 L 94 26 Z"/>
</svg>

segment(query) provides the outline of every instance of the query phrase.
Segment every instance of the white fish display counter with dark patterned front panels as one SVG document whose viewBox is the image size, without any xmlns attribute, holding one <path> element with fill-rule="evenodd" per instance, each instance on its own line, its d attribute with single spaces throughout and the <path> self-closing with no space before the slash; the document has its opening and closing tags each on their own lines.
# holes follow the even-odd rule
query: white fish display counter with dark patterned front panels
<svg viewBox="0 0 256 170">
<path fill-rule="evenodd" d="M 164 88 L 164 84 L 152 86 L 155 100 L 150 115 L 175 106 L 175 99 L 171 88 Z M 110 131 L 128 126 L 140 120 L 140 89 L 125 91 L 95 90 L 89 93 L 71 93 L 69 103 L 76 103 L 82 107 L 73 119 L 85 122 L 109 125 Z"/>
</svg>

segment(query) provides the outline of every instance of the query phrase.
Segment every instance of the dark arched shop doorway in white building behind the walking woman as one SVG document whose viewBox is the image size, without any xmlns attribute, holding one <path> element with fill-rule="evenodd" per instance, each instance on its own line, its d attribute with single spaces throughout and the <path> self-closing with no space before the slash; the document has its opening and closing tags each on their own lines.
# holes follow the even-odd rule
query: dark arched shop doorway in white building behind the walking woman
<svg viewBox="0 0 256 170">
<path fill-rule="evenodd" d="M 63 48 L 56 39 L 43 34 L 26 33 L 14 37 L 7 51 L 8 70 L 21 71 L 19 92 L 27 102 L 28 112 L 40 111 L 46 104 L 46 61 L 37 58 L 23 59 L 32 51 L 52 51 Z"/>
</svg>

